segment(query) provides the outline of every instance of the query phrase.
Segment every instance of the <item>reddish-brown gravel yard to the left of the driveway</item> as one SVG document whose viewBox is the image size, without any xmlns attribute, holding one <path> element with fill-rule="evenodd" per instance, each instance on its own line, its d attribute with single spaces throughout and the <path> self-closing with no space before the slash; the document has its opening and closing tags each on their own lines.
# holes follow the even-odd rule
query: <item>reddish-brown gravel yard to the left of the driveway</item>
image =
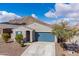
<svg viewBox="0 0 79 59">
<path fill-rule="evenodd" d="M 5 43 L 0 41 L 0 55 L 20 56 L 27 47 L 21 47 L 16 42 Z"/>
</svg>

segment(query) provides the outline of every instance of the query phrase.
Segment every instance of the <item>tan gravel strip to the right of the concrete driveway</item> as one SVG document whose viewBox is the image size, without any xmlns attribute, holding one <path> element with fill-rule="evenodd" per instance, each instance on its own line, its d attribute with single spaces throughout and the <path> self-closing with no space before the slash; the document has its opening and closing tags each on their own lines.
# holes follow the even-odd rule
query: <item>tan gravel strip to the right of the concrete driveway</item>
<svg viewBox="0 0 79 59">
<path fill-rule="evenodd" d="M 71 51 L 63 50 L 58 43 L 55 44 L 55 54 L 56 56 L 79 56 L 79 53 L 74 52 L 72 54 Z"/>
</svg>

